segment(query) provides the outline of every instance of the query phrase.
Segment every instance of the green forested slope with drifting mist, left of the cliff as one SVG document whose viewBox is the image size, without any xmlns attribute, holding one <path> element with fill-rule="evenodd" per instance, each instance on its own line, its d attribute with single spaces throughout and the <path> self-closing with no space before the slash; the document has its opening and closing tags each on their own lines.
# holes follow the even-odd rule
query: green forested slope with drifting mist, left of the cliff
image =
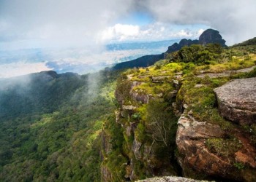
<svg viewBox="0 0 256 182">
<path fill-rule="evenodd" d="M 99 181 L 115 79 L 46 71 L 1 84 L 0 181 Z"/>
</svg>

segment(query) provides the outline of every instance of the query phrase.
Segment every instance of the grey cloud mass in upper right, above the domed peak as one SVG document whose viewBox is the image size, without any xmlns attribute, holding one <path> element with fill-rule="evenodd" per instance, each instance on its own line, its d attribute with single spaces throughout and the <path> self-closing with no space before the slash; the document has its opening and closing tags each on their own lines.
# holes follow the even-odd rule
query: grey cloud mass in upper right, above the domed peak
<svg viewBox="0 0 256 182">
<path fill-rule="evenodd" d="M 136 1 L 157 21 L 179 25 L 204 24 L 217 29 L 227 44 L 255 37 L 255 0 Z"/>
</svg>

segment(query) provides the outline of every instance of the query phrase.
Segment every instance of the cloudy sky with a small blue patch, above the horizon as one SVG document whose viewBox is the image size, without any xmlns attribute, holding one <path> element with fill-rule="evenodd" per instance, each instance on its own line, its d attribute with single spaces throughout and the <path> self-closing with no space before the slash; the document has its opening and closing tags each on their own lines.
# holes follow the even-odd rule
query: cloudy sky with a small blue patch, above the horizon
<svg viewBox="0 0 256 182">
<path fill-rule="evenodd" d="M 207 28 L 232 45 L 255 37 L 255 7 L 255 0 L 0 0 L 0 51 L 87 46 L 101 52 L 110 43 L 198 39 Z M 24 70 L 22 61 L 10 65 L 0 55 L 0 69 L 24 63 Z M 47 61 L 34 66 L 48 68 Z"/>
</svg>

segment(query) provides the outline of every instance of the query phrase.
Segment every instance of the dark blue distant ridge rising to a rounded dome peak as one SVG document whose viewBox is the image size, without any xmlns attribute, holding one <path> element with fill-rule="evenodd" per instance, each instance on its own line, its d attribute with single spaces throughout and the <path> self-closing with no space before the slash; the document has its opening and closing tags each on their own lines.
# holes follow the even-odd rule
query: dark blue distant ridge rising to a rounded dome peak
<svg viewBox="0 0 256 182">
<path fill-rule="evenodd" d="M 176 52 L 178 50 L 181 50 L 182 47 L 190 46 L 192 44 L 220 44 L 222 47 L 227 47 L 225 42 L 226 41 L 222 39 L 222 36 L 219 34 L 219 31 L 207 29 L 200 35 L 199 40 L 181 39 L 179 43 L 174 43 L 173 45 L 168 47 L 168 50 L 165 53 Z M 165 53 L 162 53 L 160 55 L 145 55 L 135 60 L 129 60 L 127 62 L 118 63 L 116 64 L 116 66 L 113 66 L 112 69 L 118 70 L 123 68 L 151 66 L 158 60 L 165 58 Z"/>
</svg>

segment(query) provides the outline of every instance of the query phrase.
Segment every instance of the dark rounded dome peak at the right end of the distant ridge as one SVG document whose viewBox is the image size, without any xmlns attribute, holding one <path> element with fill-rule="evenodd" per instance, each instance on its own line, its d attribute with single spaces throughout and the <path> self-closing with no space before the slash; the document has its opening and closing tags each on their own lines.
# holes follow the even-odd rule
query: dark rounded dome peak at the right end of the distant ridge
<svg viewBox="0 0 256 182">
<path fill-rule="evenodd" d="M 225 40 L 219 34 L 219 31 L 213 29 L 207 29 L 199 37 L 199 44 L 221 44 L 222 47 L 226 47 Z"/>
</svg>

